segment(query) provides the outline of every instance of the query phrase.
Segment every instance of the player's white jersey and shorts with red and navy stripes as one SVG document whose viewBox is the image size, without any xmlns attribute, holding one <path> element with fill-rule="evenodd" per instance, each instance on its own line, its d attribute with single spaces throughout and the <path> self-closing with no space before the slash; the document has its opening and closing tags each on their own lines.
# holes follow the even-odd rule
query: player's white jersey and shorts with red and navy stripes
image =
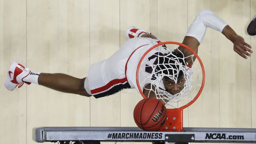
<svg viewBox="0 0 256 144">
<path fill-rule="evenodd" d="M 152 38 L 132 38 L 110 58 L 90 65 L 86 78 L 91 94 L 95 98 L 112 95 L 127 88 L 136 88 L 136 69 L 143 54 L 152 46 L 160 43 Z M 169 51 L 161 47 L 161 53 Z M 156 50 L 157 49 L 157 50 Z M 150 54 L 158 52 L 158 48 L 150 51 Z M 152 61 L 156 59 L 152 58 Z M 144 65 L 145 62 L 142 63 Z M 145 70 L 146 71 L 146 70 Z M 141 87 L 143 89 L 143 87 Z"/>
</svg>

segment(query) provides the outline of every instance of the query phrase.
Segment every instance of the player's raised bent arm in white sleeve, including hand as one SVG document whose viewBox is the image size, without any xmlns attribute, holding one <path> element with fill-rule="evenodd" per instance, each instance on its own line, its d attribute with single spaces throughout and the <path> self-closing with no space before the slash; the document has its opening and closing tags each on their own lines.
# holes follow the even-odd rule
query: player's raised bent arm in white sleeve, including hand
<svg viewBox="0 0 256 144">
<path fill-rule="evenodd" d="M 202 43 L 207 27 L 224 34 L 232 43 L 234 43 L 234 51 L 242 57 L 247 58 L 246 55 L 250 56 L 247 52 L 252 53 L 249 49 L 251 46 L 248 43 L 245 43 L 244 39 L 237 35 L 225 21 L 208 9 L 201 10 L 196 15 L 182 43 L 191 47 L 197 53 L 198 46 Z M 180 46 L 178 49 L 181 50 L 185 56 L 192 55 L 192 52 L 186 48 Z M 196 57 L 194 56 L 193 60 L 195 60 L 195 58 Z M 187 59 L 187 62 L 190 65 L 193 64 L 191 57 Z"/>
</svg>

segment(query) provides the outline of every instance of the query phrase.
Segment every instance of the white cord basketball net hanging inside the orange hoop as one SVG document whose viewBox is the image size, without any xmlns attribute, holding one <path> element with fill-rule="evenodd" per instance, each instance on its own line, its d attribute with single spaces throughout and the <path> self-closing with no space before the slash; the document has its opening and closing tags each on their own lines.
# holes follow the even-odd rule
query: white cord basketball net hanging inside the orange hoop
<svg viewBox="0 0 256 144">
<path fill-rule="evenodd" d="M 159 46 L 159 47 L 161 47 L 161 46 Z M 160 53 L 161 48 L 159 48 L 159 47 L 156 47 L 155 49 L 158 49 L 158 52 Z M 192 59 L 192 57 L 194 55 L 184 57 L 183 53 L 180 50 L 177 49 L 183 55 L 183 57 L 180 58 L 180 57 L 177 57 L 176 55 L 172 54 L 173 50 L 172 51 L 169 50 L 169 49 L 165 49 L 165 50 L 169 51 L 168 54 L 165 55 L 165 56 L 161 56 L 158 53 L 153 54 L 158 59 L 157 63 L 155 63 L 155 61 L 150 61 L 149 60 L 149 57 L 152 56 L 152 54 L 151 55 L 147 54 L 144 57 L 144 59 L 143 59 L 144 62 L 141 64 L 140 69 L 139 69 L 139 77 L 140 76 L 143 77 L 143 80 L 140 79 L 139 83 L 140 83 L 141 88 L 144 88 L 145 90 L 153 91 L 156 95 L 156 98 L 157 99 L 162 99 L 165 102 L 166 105 L 170 105 L 170 106 L 172 106 L 172 108 L 179 108 L 179 102 L 180 101 L 186 100 L 186 101 L 190 102 L 190 101 L 193 100 L 190 93 L 191 93 L 191 91 L 193 91 L 193 89 L 196 86 L 201 86 L 201 84 L 198 84 L 196 82 L 196 80 L 198 80 L 198 72 L 201 71 L 202 69 L 201 68 L 200 69 L 190 68 L 187 65 L 187 62 L 185 61 L 185 59 L 189 59 L 189 58 Z M 170 55 L 172 55 L 171 58 L 169 58 Z M 168 60 L 174 61 L 174 63 L 169 63 L 169 64 L 159 63 L 159 58 L 160 57 L 166 57 L 166 58 L 168 58 Z M 193 61 L 193 59 L 192 59 L 192 61 Z M 145 63 L 147 63 L 147 64 L 145 65 Z M 158 65 L 163 65 L 165 68 L 164 69 L 159 69 L 159 68 L 157 68 Z M 153 69 L 152 73 L 145 72 L 145 69 L 149 68 L 149 67 L 151 67 Z M 196 73 L 197 76 L 193 80 L 192 79 L 192 73 L 196 69 L 198 70 L 197 73 Z M 165 70 L 167 70 L 168 73 L 163 73 L 163 71 L 165 71 Z M 169 74 L 169 71 L 172 71 L 173 74 Z M 184 79 L 185 79 L 185 83 L 184 83 L 182 91 L 172 95 L 171 93 L 163 90 L 164 86 L 163 86 L 162 79 L 164 77 L 168 77 L 169 79 L 171 79 L 175 83 L 177 83 L 178 74 L 181 71 L 182 71 L 182 73 L 184 75 Z M 150 89 L 147 89 L 147 88 L 144 87 L 148 84 L 150 84 Z M 148 95 L 145 95 L 145 96 L 149 97 Z M 187 96 L 187 97 L 185 97 L 185 96 Z"/>
</svg>

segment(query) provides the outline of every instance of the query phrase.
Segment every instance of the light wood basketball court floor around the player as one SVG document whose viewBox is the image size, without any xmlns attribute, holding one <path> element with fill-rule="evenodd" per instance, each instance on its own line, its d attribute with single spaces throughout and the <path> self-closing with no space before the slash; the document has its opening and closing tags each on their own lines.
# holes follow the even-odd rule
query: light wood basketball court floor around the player
<svg viewBox="0 0 256 144">
<path fill-rule="evenodd" d="M 122 46 L 127 27 L 182 42 L 205 8 L 256 48 L 256 37 L 246 33 L 256 0 L 0 0 L 0 143 L 35 143 L 32 128 L 40 126 L 136 126 L 133 108 L 142 99 L 134 89 L 100 99 L 35 84 L 7 91 L 14 60 L 33 72 L 83 78 L 90 64 Z M 228 39 L 208 28 L 199 56 L 205 87 L 184 110 L 184 127 L 256 128 L 255 54 L 241 58 Z"/>
</svg>

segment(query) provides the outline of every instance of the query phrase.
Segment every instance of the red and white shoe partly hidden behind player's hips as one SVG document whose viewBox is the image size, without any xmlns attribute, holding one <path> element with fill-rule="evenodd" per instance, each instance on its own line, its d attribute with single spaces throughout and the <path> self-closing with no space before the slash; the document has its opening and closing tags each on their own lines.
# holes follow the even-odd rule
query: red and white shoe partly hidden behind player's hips
<svg viewBox="0 0 256 144">
<path fill-rule="evenodd" d="M 134 37 L 141 37 L 143 34 L 151 34 L 150 32 L 146 32 L 144 30 L 140 30 L 134 26 L 130 26 L 127 28 L 125 32 L 125 36 L 127 39 L 131 39 Z"/>
</svg>

